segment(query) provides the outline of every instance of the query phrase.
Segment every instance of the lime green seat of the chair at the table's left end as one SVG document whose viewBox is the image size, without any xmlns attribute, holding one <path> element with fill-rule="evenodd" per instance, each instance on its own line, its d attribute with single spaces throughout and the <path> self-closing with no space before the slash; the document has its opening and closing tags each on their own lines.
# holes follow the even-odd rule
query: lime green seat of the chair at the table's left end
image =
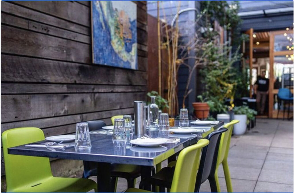
<svg viewBox="0 0 294 193">
<path fill-rule="evenodd" d="M 97 184 L 90 179 L 48 177 L 33 184 L 19 187 L 9 192 L 88 192 L 96 189 Z"/>
</svg>

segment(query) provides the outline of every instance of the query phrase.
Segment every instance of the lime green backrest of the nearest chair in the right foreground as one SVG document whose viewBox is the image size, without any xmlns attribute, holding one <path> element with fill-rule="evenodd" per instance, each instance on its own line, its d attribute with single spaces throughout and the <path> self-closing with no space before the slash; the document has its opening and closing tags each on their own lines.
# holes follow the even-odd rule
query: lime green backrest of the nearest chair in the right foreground
<svg viewBox="0 0 294 193">
<path fill-rule="evenodd" d="M 208 143 L 207 139 L 201 139 L 180 152 L 170 192 L 194 192 L 201 149 Z"/>
</svg>

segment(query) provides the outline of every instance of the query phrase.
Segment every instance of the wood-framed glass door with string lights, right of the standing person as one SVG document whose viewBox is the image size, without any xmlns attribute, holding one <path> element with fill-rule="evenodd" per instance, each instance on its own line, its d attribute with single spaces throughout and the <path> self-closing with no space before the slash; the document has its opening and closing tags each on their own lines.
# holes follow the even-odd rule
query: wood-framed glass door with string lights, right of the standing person
<svg viewBox="0 0 294 193">
<path fill-rule="evenodd" d="M 277 118 L 279 88 L 293 93 L 293 39 L 293 30 L 270 32 L 269 118 Z"/>
</svg>

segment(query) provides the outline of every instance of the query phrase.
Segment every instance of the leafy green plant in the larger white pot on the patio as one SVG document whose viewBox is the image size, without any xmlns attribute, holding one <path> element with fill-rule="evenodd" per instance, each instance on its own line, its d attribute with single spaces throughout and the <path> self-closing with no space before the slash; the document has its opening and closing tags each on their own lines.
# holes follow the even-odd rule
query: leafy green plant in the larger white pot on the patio
<svg viewBox="0 0 294 193">
<path fill-rule="evenodd" d="M 234 125 L 234 134 L 243 135 L 246 132 L 247 124 L 254 119 L 257 111 L 250 109 L 248 106 L 237 106 L 234 108 L 234 119 L 240 122 Z"/>
</svg>

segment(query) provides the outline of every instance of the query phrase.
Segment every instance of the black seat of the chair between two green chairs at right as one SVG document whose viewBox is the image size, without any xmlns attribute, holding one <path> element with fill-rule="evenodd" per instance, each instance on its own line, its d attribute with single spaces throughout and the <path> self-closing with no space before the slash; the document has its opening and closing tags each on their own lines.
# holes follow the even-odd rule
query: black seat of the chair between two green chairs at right
<svg viewBox="0 0 294 193">
<path fill-rule="evenodd" d="M 160 187 L 171 188 L 174 172 L 175 167 L 164 167 L 151 177 L 142 180 L 140 187 L 141 185 L 144 186 L 146 184 L 152 184 Z"/>
</svg>

